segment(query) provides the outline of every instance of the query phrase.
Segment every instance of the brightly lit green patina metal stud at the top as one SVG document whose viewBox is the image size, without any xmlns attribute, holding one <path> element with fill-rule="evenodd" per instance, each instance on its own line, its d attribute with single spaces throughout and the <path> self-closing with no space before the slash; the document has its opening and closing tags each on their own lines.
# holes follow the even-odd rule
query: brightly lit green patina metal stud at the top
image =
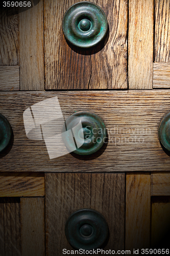
<svg viewBox="0 0 170 256">
<path fill-rule="evenodd" d="M 79 2 L 72 5 L 64 14 L 62 29 L 65 38 L 81 48 L 98 44 L 108 30 L 104 11 L 91 2 Z"/>
</svg>

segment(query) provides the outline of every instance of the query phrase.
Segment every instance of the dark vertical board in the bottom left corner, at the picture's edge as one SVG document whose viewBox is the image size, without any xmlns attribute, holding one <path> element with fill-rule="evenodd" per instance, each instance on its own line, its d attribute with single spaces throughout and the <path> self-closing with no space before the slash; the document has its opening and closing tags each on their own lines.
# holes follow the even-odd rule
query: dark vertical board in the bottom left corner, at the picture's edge
<svg viewBox="0 0 170 256">
<path fill-rule="evenodd" d="M 20 199 L 0 198 L 0 255 L 21 256 Z"/>
</svg>

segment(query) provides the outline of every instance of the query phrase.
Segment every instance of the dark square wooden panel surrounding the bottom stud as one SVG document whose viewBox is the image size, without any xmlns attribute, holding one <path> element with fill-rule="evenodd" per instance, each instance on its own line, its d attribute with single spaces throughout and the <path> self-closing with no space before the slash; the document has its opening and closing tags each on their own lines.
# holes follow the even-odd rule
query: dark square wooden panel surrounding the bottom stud
<svg viewBox="0 0 170 256">
<path fill-rule="evenodd" d="M 71 249 L 65 237 L 69 215 L 83 208 L 105 217 L 110 239 L 105 249 L 124 249 L 125 174 L 45 174 L 46 255 Z"/>
</svg>

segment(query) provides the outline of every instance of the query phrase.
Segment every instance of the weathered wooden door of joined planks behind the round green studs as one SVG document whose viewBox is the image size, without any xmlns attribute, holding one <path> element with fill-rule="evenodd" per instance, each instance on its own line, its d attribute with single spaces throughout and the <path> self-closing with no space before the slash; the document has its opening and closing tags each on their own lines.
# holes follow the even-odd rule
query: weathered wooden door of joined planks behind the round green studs
<svg viewBox="0 0 170 256">
<path fill-rule="evenodd" d="M 13 130 L 0 153 L 3 256 L 73 250 L 64 227 L 81 208 L 105 217 L 105 250 L 169 247 L 170 158 L 158 126 L 170 109 L 170 2 L 91 0 L 109 33 L 90 50 L 69 45 L 62 32 L 63 14 L 77 2 L 1 10 L 0 113 Z M 43 140 L 27 138 L 23 112 L 55 96 L 65 119 L 81 110 L 103 118 L 108 141 L 100 151 L 50 160 Z"/>
</svg>

